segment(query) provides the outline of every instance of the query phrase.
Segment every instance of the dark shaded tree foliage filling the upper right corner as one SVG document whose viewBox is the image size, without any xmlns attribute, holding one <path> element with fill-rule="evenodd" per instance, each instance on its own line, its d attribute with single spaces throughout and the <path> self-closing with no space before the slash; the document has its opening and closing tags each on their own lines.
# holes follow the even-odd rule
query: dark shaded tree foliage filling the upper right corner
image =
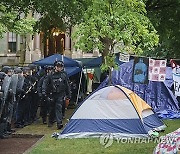
<svg viewBox="0 0 180 154">
<path fill-rule="evenodd" d="M 145 0 L 148 17 L 159 35 L 159 45 L 144 54 L 180 58 L 180 0 Z"/>
</svg>

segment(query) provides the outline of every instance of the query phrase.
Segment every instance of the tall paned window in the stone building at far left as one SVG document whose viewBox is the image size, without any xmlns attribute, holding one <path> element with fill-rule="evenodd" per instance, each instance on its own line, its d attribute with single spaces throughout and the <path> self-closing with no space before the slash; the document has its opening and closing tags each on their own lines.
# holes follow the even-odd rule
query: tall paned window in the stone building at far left
<svg viewBox="0 0 180 154">
<path fill-rule="evenodd" d="M 8 33 L 8 52 L 15 53 L 16 49 L 16 42 L 17 42 L 17 35 L 13 32 Z"/>
</svg>

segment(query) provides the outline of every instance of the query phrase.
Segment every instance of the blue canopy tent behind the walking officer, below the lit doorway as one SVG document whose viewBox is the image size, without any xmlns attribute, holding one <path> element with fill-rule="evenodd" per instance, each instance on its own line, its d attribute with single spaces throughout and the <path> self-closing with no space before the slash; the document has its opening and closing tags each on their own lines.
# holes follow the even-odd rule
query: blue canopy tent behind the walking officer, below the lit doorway
<svg viewBox="0 0 180 154">
<path fill-rule="evenodd" d="M 65 71 L 67 72 L 68 76 L 72 76 L 82 70 L 80 64 L 77 61 L 69 57 L 62 56 L 60 54 L 54 54 L 44 59 L 35 61 L 33 62 L 33 64 L 36 64 L 39 66 L 54 65 L 55 61 L 60 61 L 60 60 L 64 62 Z"/>
</svg>

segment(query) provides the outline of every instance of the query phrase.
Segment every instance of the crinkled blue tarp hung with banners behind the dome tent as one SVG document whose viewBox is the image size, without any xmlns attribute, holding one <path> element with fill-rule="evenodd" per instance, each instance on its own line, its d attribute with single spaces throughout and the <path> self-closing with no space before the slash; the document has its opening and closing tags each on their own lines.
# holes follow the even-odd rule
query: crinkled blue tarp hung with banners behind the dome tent
<svg viewBox="0 0 180 154">
<path fill-rule="evenodd" d="M 173 84 L 172 69 L 167 67 L 165 82 L 149 81 L 148 84 L 137 84 L 132 82 L 133 63 L 131 60 L 112 72 L 112 84 L 119 84 L 131 89 L 145 100 L 162 119 L 180 118 L 178 101 L 170 87 Z M 107 85 L 108 79 L 99 88 Z"/>
</svg>

